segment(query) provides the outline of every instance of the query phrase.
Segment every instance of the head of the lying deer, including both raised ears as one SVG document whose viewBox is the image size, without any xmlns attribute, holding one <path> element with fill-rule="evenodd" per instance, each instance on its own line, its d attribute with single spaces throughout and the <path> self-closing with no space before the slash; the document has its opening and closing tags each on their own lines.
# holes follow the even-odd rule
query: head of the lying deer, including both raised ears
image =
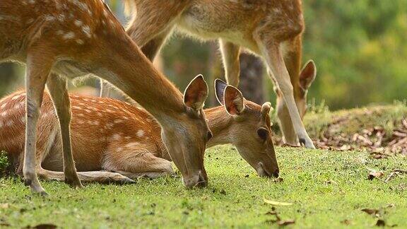
<svg viewBox="0 0 407 229">
<path fill-rule="evenodd" d="M 261 177 L 278 177 L 278 163 L 271 140 L 270 102 L 257 105 L 245 100 L 240 90 L 216 80 L 216 98 L 225 107 L 225 119 L 230 124 L 223 130 L 214 126 L 213 134 L 217 141 L 228 141 L 234 144 L 242 158 L 251 165 Z M 208 115 L 211 110 L 208 110 Z M 226 122 L 226 121 L 223 121 Z M 215 132 L 216 131 L 216 132 Z M 211 146 L 211 141 L 208 143 Z"/>
</svg>

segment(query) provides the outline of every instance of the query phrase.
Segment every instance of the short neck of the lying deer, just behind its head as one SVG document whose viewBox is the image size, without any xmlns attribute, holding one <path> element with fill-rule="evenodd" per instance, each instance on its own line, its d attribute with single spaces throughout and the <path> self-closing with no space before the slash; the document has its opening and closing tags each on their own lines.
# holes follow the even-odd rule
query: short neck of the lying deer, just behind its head
<svg viewBox="0 0 407 229">
<path fill-rule="evenodd" d="M 225 111 L 225 107 L 218 106 L 206 109 L 205 114 L 213 136 L 208 141 L 208 147 L 232 143 L 229 129 L 233 118 Z"/>
</svg>

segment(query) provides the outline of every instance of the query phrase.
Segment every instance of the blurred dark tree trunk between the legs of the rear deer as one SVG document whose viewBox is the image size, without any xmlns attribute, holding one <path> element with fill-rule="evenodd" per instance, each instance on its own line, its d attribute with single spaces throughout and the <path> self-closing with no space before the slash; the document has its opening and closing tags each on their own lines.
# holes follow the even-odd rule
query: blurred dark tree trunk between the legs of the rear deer
<svg viewBox="0 0 407 229">
<path fill-rule="evenodd" d="M 264 65 L 263 61 L 252 54 L 240 54 L 240 85 L 244 98 L 261 105 L 264 96 Z"/>
</svg>

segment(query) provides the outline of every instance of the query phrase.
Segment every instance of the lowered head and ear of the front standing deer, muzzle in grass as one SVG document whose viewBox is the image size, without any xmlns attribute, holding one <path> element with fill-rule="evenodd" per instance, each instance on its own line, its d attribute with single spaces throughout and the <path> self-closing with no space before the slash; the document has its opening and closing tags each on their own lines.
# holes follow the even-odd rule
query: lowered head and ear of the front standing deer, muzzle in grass
<svg viewBox="0 0 407 229">
<path fill-rule="evenodd" d="M 204 168 L 204 153 L 206 143 L 212 134 L 206 124 L 203 110 L 207 97 L 208 86 L 204 77 L 196 76 L 184 92 L 186 116 L 182 123 L 186 126 L 179 125 L 170 130 L 161 131 L 163 142 L 182 173 L 184 185 L 188 188 L 204 187 L 208 181 Z M 176 124 L 174 122 L 172 125 Z M 194 141 L 194 139 L 202 139 L 202 141 Z"/>
</svg>

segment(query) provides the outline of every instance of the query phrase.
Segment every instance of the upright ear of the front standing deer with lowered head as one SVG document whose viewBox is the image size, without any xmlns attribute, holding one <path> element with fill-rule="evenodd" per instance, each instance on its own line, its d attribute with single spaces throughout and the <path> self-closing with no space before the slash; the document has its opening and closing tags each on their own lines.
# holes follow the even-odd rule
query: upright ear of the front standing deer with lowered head
<svg viewBox="0 0 407 229">
<path fill-rule="evenodd" d="M 208 98 L 208 85 L 204 76 L 196 76 L 187 86 L 184 92 L 184 104 L 194 110 L 201 110 Z"/>
</svg>

